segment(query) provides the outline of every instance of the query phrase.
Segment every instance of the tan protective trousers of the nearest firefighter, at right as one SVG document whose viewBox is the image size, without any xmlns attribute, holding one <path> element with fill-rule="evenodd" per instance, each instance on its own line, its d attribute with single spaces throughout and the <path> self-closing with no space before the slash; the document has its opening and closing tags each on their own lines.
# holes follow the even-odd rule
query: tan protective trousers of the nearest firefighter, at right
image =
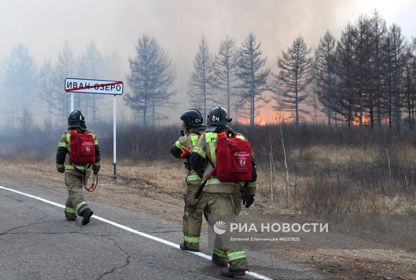
<svg viewBox="0 0 416 280">
<path fill-rule="evenodd" d="M 204 214 L 208 217 L 208 223 L 211 227 L 218 221 L 235 223 L 235 216 L 240 213 L 241 194 L 224 193 L 224 192 L 206 192 L 208 198 L 208 206 Z M 237 238 L 235 231 L 226 230 L 222 234 L 215 235 L 213 257 L 218 261 L 228 261 L 231 270 L 248 270 L 248 262 L 243 251 L 241 241 L 231 241 Z"/>
</svg>

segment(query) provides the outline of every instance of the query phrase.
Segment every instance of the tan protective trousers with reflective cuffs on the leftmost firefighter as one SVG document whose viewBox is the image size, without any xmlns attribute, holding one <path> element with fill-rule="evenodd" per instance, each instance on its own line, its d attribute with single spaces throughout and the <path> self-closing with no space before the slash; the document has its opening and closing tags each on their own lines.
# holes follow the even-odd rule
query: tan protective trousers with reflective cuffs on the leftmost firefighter
<svg viewBox="0 0 416 280">
<path fill-rule="evenodd" d="M 85 175 L 85 183 L 88 181 L 90 172 Z M 82 213 L 88 205 L 85 201 L 84 192 L 84 176 L 83 175 L 70 175 L 65 173 L 65 185 L 68 189 L 67 203 L 65 204 L 65 216 L 67 219 L 77 218 L 77 214 Z"/>
</svg>

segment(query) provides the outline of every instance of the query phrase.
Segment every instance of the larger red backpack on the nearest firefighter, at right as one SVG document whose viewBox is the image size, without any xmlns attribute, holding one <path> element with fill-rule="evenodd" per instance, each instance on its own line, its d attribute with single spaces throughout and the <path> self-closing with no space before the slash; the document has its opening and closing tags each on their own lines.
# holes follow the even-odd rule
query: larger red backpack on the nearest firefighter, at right
<svg viewBox="0 0 416 280">
<path fill-rule="evenodd" d="M 253 179 L 250 143 L 245 139 L 227 137 L 224 132 L 217 137 L 217 166 L 210 175 L 216 175 L 221 182 L 250 182 Z"/>
</svg>

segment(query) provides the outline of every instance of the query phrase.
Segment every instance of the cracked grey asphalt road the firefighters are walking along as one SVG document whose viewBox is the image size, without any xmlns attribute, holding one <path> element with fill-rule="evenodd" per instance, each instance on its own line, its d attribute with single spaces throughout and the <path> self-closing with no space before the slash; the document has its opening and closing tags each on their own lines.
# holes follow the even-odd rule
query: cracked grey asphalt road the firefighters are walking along
<svg viewBox="0 0 416 280">
<path fill-rule="evenodd" d="M 66 200 L 62 192 L 13 178 L 0 178 L 0 186 L 60 205 Z M 178 249 L 179 223 L 102 202 L 88 203 L 98 217 L 125 228 L 99 219 L 91 219 L 86 226 L 81 219 L 69 222 L 57 205 L 0 188 L 0 279 L 227 279 L 207 259 L 212 244 L 206 235 L 201 241 L 203 254 L 198 256 Z M 258 275 L 240 279 L 332 279 L 262 252 L 246 253 L 250 270 Z"/>
</svg>

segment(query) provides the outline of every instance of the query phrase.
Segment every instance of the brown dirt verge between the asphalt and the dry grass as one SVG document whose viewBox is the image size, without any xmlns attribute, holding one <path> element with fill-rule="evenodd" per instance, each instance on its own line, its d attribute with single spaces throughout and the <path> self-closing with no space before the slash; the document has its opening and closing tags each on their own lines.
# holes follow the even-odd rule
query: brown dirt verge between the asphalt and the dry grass
<svg viewBox="0 0 416 280">
<path fill-rule="evenodd" d="M 104 165 L 99 185 L 87 197 L 176 222 L 182 221 L 184 170 L 172 166 L 117 167 Z M 15 164 L 0 161 L 0 176 L 42 184 L 67 192 L 64 175 L 52 164 Z M 272 211 L 272 212 L 275 212 Z M 277 212 L 277 211 L 276 211 Z M 262 201 L 242 213 L 270 213 Z M 280 212 L 282 213 L 282 212 Z M 280 214 L 279 213 L 279 214 Z M 207 224 L 203 223 L 204 229 Z M 334 274 L 334 279 L 416 279 L 416 252 L 401 249 L 269 249 L 269 253 Z"/>
</svg>

